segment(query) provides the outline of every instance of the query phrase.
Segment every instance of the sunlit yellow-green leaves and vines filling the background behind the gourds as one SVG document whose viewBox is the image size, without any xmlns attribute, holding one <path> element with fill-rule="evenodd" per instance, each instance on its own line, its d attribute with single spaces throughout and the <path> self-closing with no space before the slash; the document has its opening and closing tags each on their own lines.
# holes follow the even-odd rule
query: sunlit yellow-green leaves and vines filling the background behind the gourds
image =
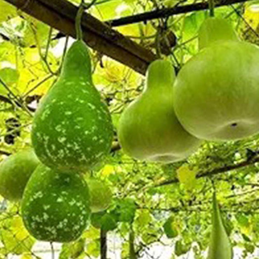
<svg viewBox="0 0 259 259">
<path fill-rule="evenodd" d="M 79 0 L 72 2 L 78 4 Z M 176 0 L 98 0 L 89 12 L 108 20 L 176 4 Z M 207 11 L 199 11 L 117 29 L 155 52 L 157 27 L 166 24 L 163 35 L 173 32 L 177 37 L 167 58 L 179 69 L 197 52 L 197 31 L 207 16 Z M 229 20 L 242 40 L 259 44 L 259 1 L 217 8 L 215 16 Z M 30 145 L 37 102 L 56 80 L 63 54 L 72 42 L 57 39 L 57 34 L 0 0 L 1 159 Z M 144 78 L 100 53 L 91 54 L 94 82 L 109 105 L 116 129 L 121 111 L 140 94 Z M 62 245 L 59 258 L 98 257 L 101 226 L 109 238 L 121 242 L 123 259 L 153 258 L 149 250 L 154 244 L 172 247 L 172 259 L 188 257 L 190 251 L 195 259 L 202 259 L 211 228 L 213 188 L 231 242 L 242 251 L 239 257 L 255 258 L 251 255 L 259 246 L 258 152 L 259 136 L 235 142 L 204 141 L 188 160 L 170 165 L 136 161 L 121 150 L 112 152 L 94 174 L 112 189 L 113 203 L 92 218 L 79 241 Z M 240 163 L 242 166 L 228 171 L 228 166 Z M 22 225 L 19 205 L 1 198 L 0 258 L 13 254 L 38 258 L 34 244 Z"/>
</svg>

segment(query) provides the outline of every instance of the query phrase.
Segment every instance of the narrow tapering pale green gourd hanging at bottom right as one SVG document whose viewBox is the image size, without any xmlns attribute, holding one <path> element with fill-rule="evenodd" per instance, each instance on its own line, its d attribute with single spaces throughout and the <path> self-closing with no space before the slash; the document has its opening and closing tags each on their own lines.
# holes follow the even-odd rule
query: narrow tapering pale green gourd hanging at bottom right
<svg viewBox="0 0 259 259">
<path fill-rule="evenodd" d="M 207 259 L 232 259 L 233 251 L 231 243 L 229 241 L 229 238 L 224 228 L 224 224 L 222 222 L 215 192 L 213 193 L 212 206 L 212 232 L 210 236 L 210 244 Z"/>
</svg>

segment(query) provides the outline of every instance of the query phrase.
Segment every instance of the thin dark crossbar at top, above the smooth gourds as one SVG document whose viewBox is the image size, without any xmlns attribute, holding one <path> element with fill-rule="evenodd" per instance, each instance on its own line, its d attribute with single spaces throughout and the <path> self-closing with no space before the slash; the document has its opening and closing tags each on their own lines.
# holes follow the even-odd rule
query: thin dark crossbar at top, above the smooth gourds
<svg viewBox="0 0 259 259">
<path fill-rule="evenodd" d="M 234 3 L 246 2 L 249 0 L 216 0 L 215 7 L 220 7 L 224 5 L 230 5 Z M 200 11 L 208 9 L 208 2 L 199 2 L 193 4 L 186 4 L 182 6 L 174 6 L 172 8 L 163 8 L 155 11 L 145 12 L 138 15 L 132 15 L 127 17 L 122 17 L 114 20 L 106 21 L 112 27 L 132 24 L 141 21 L 153 20 L 162 17 L 169 17 L 172 15 L 185 14 L 193 11 Z"/>
</svg>

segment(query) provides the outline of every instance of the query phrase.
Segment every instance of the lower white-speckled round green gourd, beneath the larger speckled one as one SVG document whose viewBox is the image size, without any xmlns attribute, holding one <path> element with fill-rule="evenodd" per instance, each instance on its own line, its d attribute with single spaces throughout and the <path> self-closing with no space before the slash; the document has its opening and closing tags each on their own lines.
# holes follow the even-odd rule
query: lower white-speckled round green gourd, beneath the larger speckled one
<svg viewBox="0 0 259 259">
<path fill-rule="evenodd" d="M 89 191 L 79 173 L 60 173 L 40 164 L 23 194 L 21 214 L 37 240 L 71 242 L 89 221 Z"/>
</svg>

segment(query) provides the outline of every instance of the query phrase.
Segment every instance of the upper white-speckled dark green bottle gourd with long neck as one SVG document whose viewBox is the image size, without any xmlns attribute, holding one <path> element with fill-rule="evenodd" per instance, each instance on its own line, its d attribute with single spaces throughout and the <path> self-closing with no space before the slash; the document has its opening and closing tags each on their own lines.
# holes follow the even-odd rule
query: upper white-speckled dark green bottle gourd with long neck
<svg viewBox="0 0 259 259">
<path fill-rule="evenodd" d="M 108 154 L 112 138 L 111 116 L 93 85 L 87 46 L 77 40 L 65 56 L 59 79 L 36 110 L 35 153 L 55 170 L 86 172 Z"/>
</svg>

